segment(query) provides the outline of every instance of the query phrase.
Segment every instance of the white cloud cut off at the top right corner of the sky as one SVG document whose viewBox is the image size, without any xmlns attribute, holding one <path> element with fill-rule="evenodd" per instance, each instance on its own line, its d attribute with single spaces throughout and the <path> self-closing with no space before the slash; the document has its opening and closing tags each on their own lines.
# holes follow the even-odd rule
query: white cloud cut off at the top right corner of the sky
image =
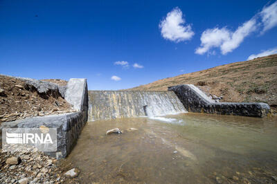
<svg viewBox="0 0 277 184">
<path fill-rule="evenodd" d="M 262 23 L 264 26 L 262 33 L 265 33 L 266 30 L 277 26 L 277 1 L 272 3 L 270 6 L 262 8 L 260 17 L 262 17 Z"/>
</svg>

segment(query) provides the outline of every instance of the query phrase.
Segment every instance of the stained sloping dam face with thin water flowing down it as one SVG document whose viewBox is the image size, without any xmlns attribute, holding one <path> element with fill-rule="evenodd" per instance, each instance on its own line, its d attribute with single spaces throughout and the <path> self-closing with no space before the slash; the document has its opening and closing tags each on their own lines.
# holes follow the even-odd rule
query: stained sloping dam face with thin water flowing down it
<svg viewBox="0 0 277 184">
<path fill-rule="evenodd" d="M 185 112 L 173 91 L 89 91 L 89 121 Z"/>
</svg>

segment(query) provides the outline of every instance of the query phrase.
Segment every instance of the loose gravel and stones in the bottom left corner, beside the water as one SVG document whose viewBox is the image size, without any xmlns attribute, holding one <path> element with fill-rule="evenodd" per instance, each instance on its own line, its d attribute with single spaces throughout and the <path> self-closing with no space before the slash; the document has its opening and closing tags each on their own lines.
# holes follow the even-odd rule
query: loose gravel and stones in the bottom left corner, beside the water
<svg viewBox="0 0 277 184">
<path fill-rule="evenodd" d="M 0 153 L 0 183 L 75 183 L 78 174 L 71 163 L 36 149 Z"/>
</svg>

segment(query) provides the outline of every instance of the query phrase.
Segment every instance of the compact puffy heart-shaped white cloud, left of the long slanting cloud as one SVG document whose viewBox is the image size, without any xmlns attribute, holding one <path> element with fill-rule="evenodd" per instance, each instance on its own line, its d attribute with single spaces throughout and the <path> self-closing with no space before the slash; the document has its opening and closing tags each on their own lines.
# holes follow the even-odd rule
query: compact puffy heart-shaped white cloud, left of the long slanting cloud
<svg viewBox="0 0 277 184">
<path fill-rule="evenodd" d="M 184 25 L 185 23 L 181 10 L 178 7 L 174 8 L 171 12 L 168 12 L 166 18 L 162 19 L 159 24 L 162 37 L 172 42 L 191 39 L 195 33 L 191 30 L 191 26 L 189 24 Z"/>
</svg>

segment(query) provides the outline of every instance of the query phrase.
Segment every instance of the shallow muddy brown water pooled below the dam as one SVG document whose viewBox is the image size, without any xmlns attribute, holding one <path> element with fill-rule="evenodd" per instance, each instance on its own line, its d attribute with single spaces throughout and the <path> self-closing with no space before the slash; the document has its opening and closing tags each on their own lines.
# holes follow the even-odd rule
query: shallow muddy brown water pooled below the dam
<svg viewBox="0 0 277 184">
<path fill-rule="evenodd" d="M 123 134 L 105 135 L 116 127 Z M 277 118 L 98 120 L 87 123 L 66 160 L 80 169 L 80 183 L 276 183 L 276 140 Z"/>
</svg>

